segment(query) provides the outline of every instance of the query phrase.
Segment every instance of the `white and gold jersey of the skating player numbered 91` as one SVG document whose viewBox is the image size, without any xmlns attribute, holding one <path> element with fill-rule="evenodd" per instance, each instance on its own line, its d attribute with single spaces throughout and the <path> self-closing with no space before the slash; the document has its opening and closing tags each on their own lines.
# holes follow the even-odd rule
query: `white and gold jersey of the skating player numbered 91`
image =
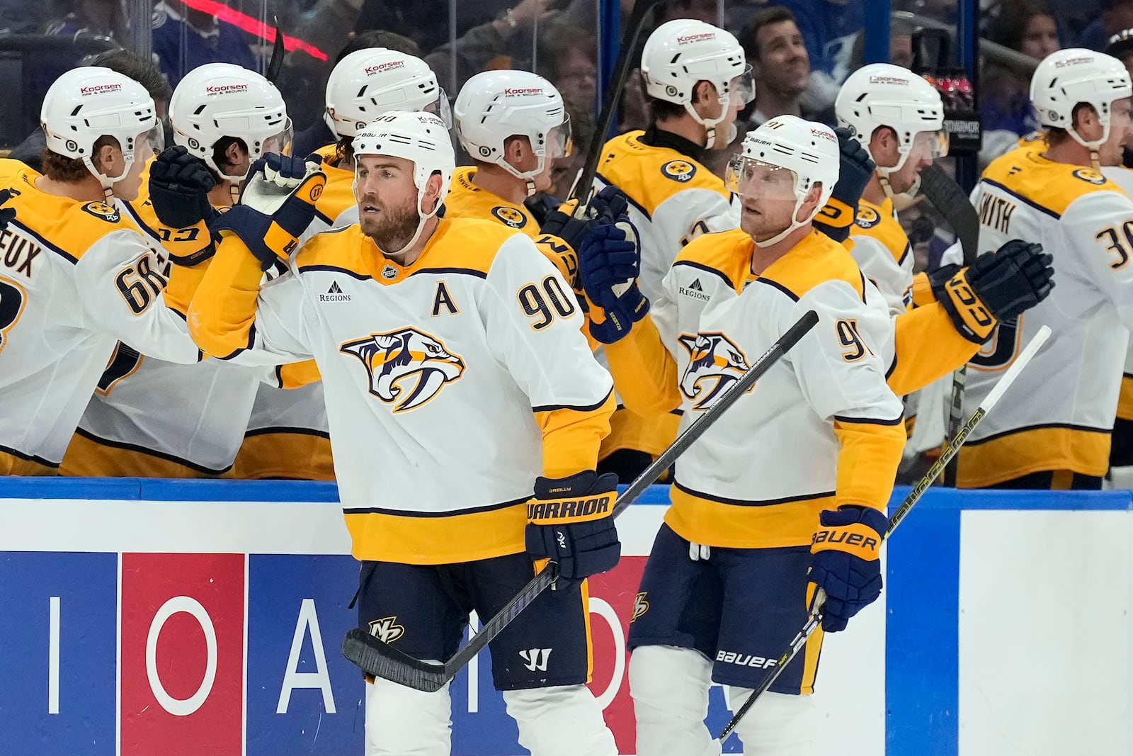
<svg viewBox="0 0 1133 756">
<path fill-rule="evenodd" d="M 740 229 L 689 244 L 651 322 L 607 356 L 615 376 L 647 368 L 650 380 L 623 390 L 630 407 L 679 405 L 688 425 L 813 309 L 818 324 L 678 460 L 665 515 L 695 543 L 802 546 L 824 509 L 887 504 L 905 438 L 885 379 L 893 326 L 838 243 L 811 232 L 760 275 L 753 247 Z"/>
</svg>

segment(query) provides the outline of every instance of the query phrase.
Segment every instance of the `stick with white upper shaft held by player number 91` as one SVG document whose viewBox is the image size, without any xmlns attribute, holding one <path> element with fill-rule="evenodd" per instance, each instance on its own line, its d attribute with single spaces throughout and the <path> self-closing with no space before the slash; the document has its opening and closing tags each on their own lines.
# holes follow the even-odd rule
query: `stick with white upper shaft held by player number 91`
<svg viewBox="0 0 1133 756">
<path fill-rule="evenodd" d="M 1011 367 L 1007 368 L 1004 376 L 999 379 L 999 381 L 991 389 L 990 393 L 988 393 L 987 399 L 985 399 L 980 406 L 976 408 L 976 411 L 972 413 L 972 416 L 969 417 L 968 422 L 960 428 L 960 432 L 956 433 L 952 441 L 944 447 L 944 451 L 940 452 L 940 458 L 932 464 L 932 467 L 930 467 L 928 473 L 925 474 L 925 477 L 917 482 L 913 490 L 909 492 L 905 500 L 901 502 L 901 506 L 897 507 L 895 512 L 893 512 L 893 517 L 889 518 L 889 527 L 885 530 L 885 535 L 881 536 L 883 541 L 893 535 L 893 532 L 896 530 L 897 526 L 905 519 L 905 516 L 909 515 L 913 504 L 920 500 L 925 492 L 928 491 L 929 486 L 932 485 L 932 482 L 939 477 L 945 465 L 947 465 L 948 461 L 960 452 L 960 448 L 964 445 L 964 441 L 968 439 L 968 435 L 976 430 L 976 426 L 980 424 L 980 421 L 982 421 L 983 417 L 991 411 L 991 408 L 995 407 L 997 401 L 999 401 L 999 398 L 1004 394 L 1004 392 L 1011 388 L 1011 384 L 1015 382 L 1015 379 L 1019 377 L 1019 374 L 1026 367 L 1026 364 L 1031 362 L 1031 358 L 1034 357 L 1034 354 L 1040 347 L 1042 347 L 1043 342 L 1046 342 L 1049 337 L 1050 329 L 1048 326 L 1043 325 L 1039 329 L 1039 332 L 1034 334 L 1034 338 L 1031 339 L 1030 343 L 1026 345 L 1015 362 L 1012 363 Z M 751 706 L 756 703 L 756 698 L 772 687 L 772 683 L 778 679 L 778 676 L 783 673 L 786 665 L 790 664 L 791 660 L 795 657 L 799 649 L 807 645 L 807 639 L 811 636 L 811 634 L 813 634 L 815 629 L 818 628 L 823 621 L 823 603 L 825 601 L 826 592 L 819 588 L 815 592 L 815 597 L 811 602 L 810 615 L 807 617 L 807 623 L 799 631 L 799 634 L 794 636 L 791 645 L 785 652 L 783 652 L 783 655 L 780 656 L 778 661 L 775 662 L 775 666 L 772 671 L 759 682 L 759 686 L 751 691 L 748 699 L 743 702 L 742 706 L 740 706 L 740 711 L 732 715 L 731 721 L 729 721 L 721 733 L 716 737 L 716 740 L 718 740 L 721 745 L 723 745 L 724 741 L 727 740 L 727 737 L 732 734 L 732 731 L 735 730 L 735 725 L 740 723 L 743 715 L 747 714 Z"/>
</svg>

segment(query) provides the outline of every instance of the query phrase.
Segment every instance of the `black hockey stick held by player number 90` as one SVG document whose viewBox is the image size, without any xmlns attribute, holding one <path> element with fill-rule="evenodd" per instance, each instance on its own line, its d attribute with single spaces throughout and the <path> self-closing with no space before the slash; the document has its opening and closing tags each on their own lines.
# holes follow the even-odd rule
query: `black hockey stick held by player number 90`
<svg viewBox="0 0 1133 756">
<path fill-rule="evenodd" d="M 676 436 L 676 440 L 673 441 L 668 449 L 663 451 L 649 467 L 645 468 L 630 483 L 625 492 L 617 498 L 612 517 L 617 517 L 625 511 L 625 508 L 645 493 L 646 489 L 661 477 L 662 473 L 667 470 L 685 449 L 691 447 L 729 407 L 735 404 L 746 391 L 751 389 L 756 384 L 756 381 L 772 365 L 777 363 L 791 347 L 798 343 L 799 339 L 812 329 L 817 322 L 818 315 L 813 311 L 809 311 L 800 317 L 735 383 L 719 396 L 719 399 L 712 407 L 705 410 L 683 433 Z M 468 664 L 468 662 L 472 661 L 476 654 L 500 635 L 521 611 L 530 606 L 531 602 L 546 591 L 547 586 L 554 583 L 554 567 L 547 564 L 446 662 L 423 662 L 414 659 L 383 643 L 361 628 L 353 628 L 347 632 L 346 638 L 342 639 L 342 655 L 360 666 L 367 674 L 400 682 L 403 686 L 426 693 L 440 690 L 452 678 L 457 677 L 457 672 Z"/>
</svg>

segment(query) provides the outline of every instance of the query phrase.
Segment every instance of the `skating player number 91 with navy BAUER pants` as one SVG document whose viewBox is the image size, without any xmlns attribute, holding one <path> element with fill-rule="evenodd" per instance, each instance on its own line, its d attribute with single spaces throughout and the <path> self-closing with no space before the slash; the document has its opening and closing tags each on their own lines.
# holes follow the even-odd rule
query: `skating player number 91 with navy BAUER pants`
<svg viewBox="0 0 1133 756">
<path fill-rule="evenodd" d="M 718 753 L 704 724 L 709 686 L 731 686 L 739 706 L 802 627 L 816 584 L 828 596 L 825 631 L 880 594 L 904 428 L 886 384 L 885 299 L 811 223 L 838 160 L 828 127 L 793 116 L 748 134 L 729 168 L 741 227 L 691 241 L 650 318 L 607 348 L 615 376 L 628 362 L 642 366 L 646 380 L 622 389 L 628 406 L 680 407 L 688 424 L 807 311 L 819 316 L 676 464 L 630 626 L 641 756 Z M 583 282 L 599 305 L 613 296 Z M 810 753 L 821 642 L 816 631 L 741 721 L 746 751 Z"/>
</svg>

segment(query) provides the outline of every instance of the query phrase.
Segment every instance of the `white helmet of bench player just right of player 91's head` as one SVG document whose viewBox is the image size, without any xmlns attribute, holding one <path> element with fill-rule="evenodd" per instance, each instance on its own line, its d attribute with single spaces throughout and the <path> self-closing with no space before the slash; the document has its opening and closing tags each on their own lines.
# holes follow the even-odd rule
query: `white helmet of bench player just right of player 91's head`
<svg viewBox="0 0 1133 756">
<path fill-rule="evenodd" d="M 928 142 L 929 155 L 935 160 L 948 154 L 948 133 L 944 130 L 944 102 L 940 93 L 922 77 L 908 68 L 891 63 L 862 66 L 845 80 L 834 102 L 838 125 L 853 131 L 869 153 L 874 131 L 888 126 L 897 134 L 901 155 L 893 167 L 877 167 L 879 176 L 888 176 L 905 164 L 918 135 Z M 869 155 L 874 162 L 874 155 Z"/>
</svg>

